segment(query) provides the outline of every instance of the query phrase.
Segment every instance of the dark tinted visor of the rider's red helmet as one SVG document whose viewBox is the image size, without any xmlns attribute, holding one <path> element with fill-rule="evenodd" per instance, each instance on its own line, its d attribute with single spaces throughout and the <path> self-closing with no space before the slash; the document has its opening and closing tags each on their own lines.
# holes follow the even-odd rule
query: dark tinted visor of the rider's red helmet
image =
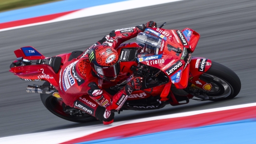
<svg viewBox="0 0 256 144">
<path fill-rule="evenodd" d="M 107 78 L 114 78 L 120 72 L 119 61 L 109 67 L 98 67 L 98 66 L 94 65 L 94 68 L 98 74 L 100 74 L 104 77 L 107 77 Z"/>
</svg>

